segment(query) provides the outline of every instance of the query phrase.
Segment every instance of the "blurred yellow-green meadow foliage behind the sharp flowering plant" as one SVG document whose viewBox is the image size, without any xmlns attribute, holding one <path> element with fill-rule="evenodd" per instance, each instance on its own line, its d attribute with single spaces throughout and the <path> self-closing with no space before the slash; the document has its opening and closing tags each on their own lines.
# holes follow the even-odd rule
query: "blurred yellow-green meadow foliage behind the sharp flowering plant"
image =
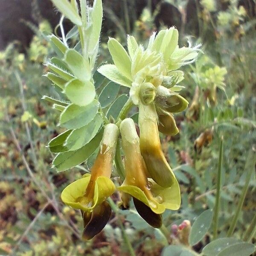
<svg viewBox="0 0 256 256">
<path fill-rule="evenodd" d="M 57 173 L 51 168 L 53 156 L 46 148 L 48 141 L 62 132 L 56 128 L 57 110 L 41 100 L 44 94 L 61 99 L 58 88 L 42 76 L 47 72 L 43 63 L 54 55 L 47 35 L 60 35 L 59 15 L 48 1 L 45 3 L 51 11 L 47 15 L 41 1 L 32 1 L 32 6 L 31 1 L 21 1 L 24 9 L 19 6 L 20 12 L 12 2 L 0 1 L 0 255 L 129 255 L 119 221 L 136 255 L 181 255 L 171 254 L 168 244 L 188 246 L 184 220 L 189 220 L 185 226 L 190 229 L 198 215 L 214 207 L 222 137 L 218 237 L 226 236 L 245 184 L 248 151 L 252 147 L 255 150 L 256 143 L 255 1 L 103 1 L 98 65 L 111 60 L 106 44 L 109 36 L 124 46 L 126 34 L 144 43 L 152 32 L 169 26 L 179 30 L 180 45 L 187 45 L 188 40 L 202 43 L 204 54 L 183 70 L 186 76 L 180 83 L 184 86 L 181 95 L 189 99 L 189 108 L 175 116 L 180 133 L 161 137 L 182 195 L 180 210 L 164 214 L 168 239 L 133 210 L 120 210 L 87 242 L 81 241 L 79 212 L 64 206 L 60 194 L 87 172 L 95 156 L 83 166 Z M 11 14 L 16 15 L 15 20 Z M 64 27 L 69 44 L 75 47 L 76 27 L 67 20 Z M 100 93 L 108 81 L 99 73 L 95 77 Z M 120 89 L 113 100 L 122 93 L 125 89 Z M 254 176 L 253 172 L 234 233 L 239 239 L 256 211 Z M 115 170 L 113 180 L 118 183 Z M 113 200 L 118 201 L 118 197 L 115 194 Z M 211 229 L 191 247 L 194 253 L 201 253 L 211 241 Z M 251 241 L 256 242 L 255 234 Z"/>
</svg>

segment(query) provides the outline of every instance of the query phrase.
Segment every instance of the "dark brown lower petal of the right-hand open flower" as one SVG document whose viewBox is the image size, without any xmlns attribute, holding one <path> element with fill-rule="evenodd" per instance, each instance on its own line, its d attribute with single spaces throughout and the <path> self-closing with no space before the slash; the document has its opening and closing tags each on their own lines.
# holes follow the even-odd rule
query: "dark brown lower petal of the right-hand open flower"
<svg viewBox="0 0 256 256">
<path fill-rule="evenodd" d="M 134 206 L 140 216 L 148 222 L 149 225 L 155 228 L 160 228 L 162 226 L 162 215 L 154 213 L 150 207 L 145 205 L 142 201 L 133 197 Z"/>
</svg>

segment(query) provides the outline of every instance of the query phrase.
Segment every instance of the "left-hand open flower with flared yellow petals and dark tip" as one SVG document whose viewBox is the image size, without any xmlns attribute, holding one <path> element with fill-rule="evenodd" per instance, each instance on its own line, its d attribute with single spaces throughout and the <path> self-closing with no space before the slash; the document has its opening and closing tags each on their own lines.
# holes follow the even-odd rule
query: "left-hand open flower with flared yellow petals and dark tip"
<svg viewBox="0 0 256 256">
<path fill-rule="evenodd" d="M 81 210 L 84 219 L 83 238 L 86 240 L 98 234 L 111 216 L 111 207 L 105 200 L 115 191 L 110 176 L 118 135 L 119 129 L 116 125 L 105 126 L 91 174 L 74 181 L 61 193 L 64 204 Z"/>
</svg>

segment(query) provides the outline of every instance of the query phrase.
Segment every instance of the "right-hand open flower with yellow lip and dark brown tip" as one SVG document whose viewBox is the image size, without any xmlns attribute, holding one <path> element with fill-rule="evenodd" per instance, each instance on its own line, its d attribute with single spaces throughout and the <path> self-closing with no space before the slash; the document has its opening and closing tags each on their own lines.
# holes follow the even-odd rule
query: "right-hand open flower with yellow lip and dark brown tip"
<svg viewBox="0 0 256 256">
<path fill-rule="evenodd" d="M 173 175 L 172 185 L 163 188 L 148 178 L 150 173 L 140 152 L 140 139 L 134 121 L 124 119 L 120 124 L 122 149 L 125 153 L 125 180 L 118 188 L 122 197 L 127 200 L 133 197 L 138 213 L 153 227 L 162 225 L 160 214 L 165 209 L 180 207 L 180 189 Z"/>
</svg>

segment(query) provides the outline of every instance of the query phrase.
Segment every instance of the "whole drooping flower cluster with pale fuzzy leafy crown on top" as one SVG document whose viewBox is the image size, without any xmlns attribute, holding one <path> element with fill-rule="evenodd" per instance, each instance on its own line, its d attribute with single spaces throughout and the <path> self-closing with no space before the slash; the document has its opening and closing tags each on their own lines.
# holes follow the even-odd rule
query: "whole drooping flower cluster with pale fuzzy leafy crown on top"
<svg viewBox="0 0 256 256">
<path fill-rule="evenodd" d="M 62 192 L 65 204 L 81 209 L 85 239 L 99 233 L 111 215 L 106 198 L 115 191 L 110 176 L 119 132 L 125 164 L 125 179 L 117 188 L 122 207 L 128 208 L 132 198 L 141 217 L 157 228 L 162 225 L 165 209 L 180 207 L 179 185 L 162 151 L 159 131 L 178 133 L 173 113 L 185 110 L 188 102 L 178 94 L 183 88 L 177 85 L 183 72 L 177 69 L 195 61 L 199 46 L 179 48 L 177 42 L 175 28 L 151 35 L 146 49 L 132 36 L 128 36 L 128 52 L 115 39 L 108 41 L 114 65 L 103 65 L 98 72 L 130 87 L 130 101 L 139 108 L 140 136 L 131 118 L 105 125 L 91 174 Z"/>
</svg>

